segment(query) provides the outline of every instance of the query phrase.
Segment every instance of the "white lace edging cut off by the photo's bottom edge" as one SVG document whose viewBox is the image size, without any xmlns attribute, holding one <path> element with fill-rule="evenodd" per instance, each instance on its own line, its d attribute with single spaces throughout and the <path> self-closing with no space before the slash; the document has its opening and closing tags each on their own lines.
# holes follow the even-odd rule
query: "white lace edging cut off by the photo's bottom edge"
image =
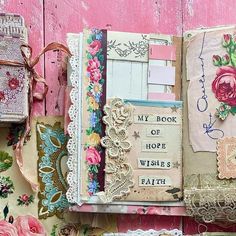
<svg viewBox="0 0 236 236">
<path fill-rule="evenodd" d="M 173 229 L 173 230 L 166 230 L 166 229 L 162 229 L 162 230 L 154 230 L 154 229 L 149 229 L 149 230 L 135 230 L 135 231 L 131 231 L 128 230 L 127 233 L 109 233 L 109 234 L 104 234 L 104 236 L 137 236 L 137 235 L 142 235 L 142 236 L 182 236 L 183 233 L 182 231 L 178 230 L 178 229 Z"/>
</svg>

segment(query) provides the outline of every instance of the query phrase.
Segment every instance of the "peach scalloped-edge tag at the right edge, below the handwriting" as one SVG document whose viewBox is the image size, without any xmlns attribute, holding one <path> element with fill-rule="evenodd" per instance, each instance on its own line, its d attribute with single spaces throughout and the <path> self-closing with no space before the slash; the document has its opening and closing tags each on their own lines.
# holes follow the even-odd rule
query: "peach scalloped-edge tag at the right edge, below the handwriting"
<svg viewBox="0 0 236 236">
<path fill-rule="evenodd" d="M 236 137 L 226 137 L 217 143 L 218 177 L 236 178 Z"/>
</svg>

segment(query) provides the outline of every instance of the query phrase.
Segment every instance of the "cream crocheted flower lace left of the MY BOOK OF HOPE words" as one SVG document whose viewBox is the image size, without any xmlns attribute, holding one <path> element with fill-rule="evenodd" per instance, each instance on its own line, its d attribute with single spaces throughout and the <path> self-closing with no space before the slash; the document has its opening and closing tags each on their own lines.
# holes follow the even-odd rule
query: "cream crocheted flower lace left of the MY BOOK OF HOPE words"
<svg viewBox="0 0 236 236">
<path fill-rule="evenodd" d="M 131 149 L 127 128 L 132 124 L 133 108 L 116 98 L 104 107 L 104 112 L 106 136 L 101 144 L 106 148 L 105 192 L 97 195 L 104 203 L 109 203 L 129 194 L 134 185 L 133 170 L 126 157 Z"/>
</svg>

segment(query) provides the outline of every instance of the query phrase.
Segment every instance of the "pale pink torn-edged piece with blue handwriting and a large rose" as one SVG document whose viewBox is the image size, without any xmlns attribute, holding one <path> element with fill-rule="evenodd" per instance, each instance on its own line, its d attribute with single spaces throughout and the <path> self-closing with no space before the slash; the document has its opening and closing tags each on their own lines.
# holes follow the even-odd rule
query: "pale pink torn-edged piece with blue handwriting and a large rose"
<svg viewBox="0 0 236 236">
<path fill-rule="evenodd" d="M 226 54 L 233 34 L 233 28 L 202 31 L 186 41 L 189 138 L 194 152 L 215 152 L 219 139 L 236 136 L 232 129 L 236 125 L 235 108 L 229 97 L 235 99 L 231 87 L 234 59 L 231 52 L 231 64 L 231 54 Z M 224 43 L 225 36 L 229 42 Z"/>
</svg>

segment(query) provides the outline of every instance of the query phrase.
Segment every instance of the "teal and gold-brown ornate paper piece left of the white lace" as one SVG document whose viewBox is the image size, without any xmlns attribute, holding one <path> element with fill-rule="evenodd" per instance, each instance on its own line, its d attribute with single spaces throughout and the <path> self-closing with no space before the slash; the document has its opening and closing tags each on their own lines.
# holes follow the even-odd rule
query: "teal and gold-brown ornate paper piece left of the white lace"
<svg viewBox="0 0 236 236">
<path fill-rule="evenodd" d="M 61 216 L 69 207 L 66 198 L 67 183 L 64 179 L 61 160 L 67 157 L 67 136 L 57 122 L 53 126 L 37 123 L 38 148 L 38 215 L 40 219 Z"/>
</svg>

